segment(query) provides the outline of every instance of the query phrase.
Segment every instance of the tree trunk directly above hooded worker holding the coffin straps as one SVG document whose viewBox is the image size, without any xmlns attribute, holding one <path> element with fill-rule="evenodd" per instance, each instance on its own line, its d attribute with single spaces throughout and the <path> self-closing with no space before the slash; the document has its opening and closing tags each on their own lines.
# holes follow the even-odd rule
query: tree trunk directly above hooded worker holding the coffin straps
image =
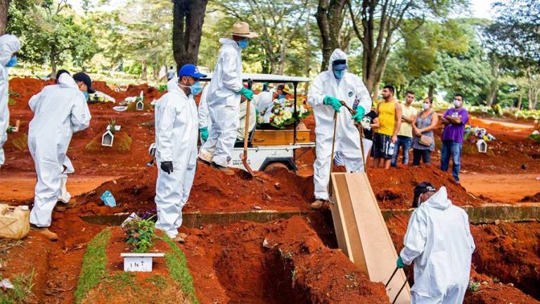
<svg viewBox="0 0 540 304">
<path fill-rule="evenodd" d="M 319 0 L 315 18 L 321 32 L 321 49 L 323 51 L 321 72 L 328 69 L 328 60 L 332 51 L 340 47 L 340 32 L 346 3 L 347 0 Z"/>
</svg>

